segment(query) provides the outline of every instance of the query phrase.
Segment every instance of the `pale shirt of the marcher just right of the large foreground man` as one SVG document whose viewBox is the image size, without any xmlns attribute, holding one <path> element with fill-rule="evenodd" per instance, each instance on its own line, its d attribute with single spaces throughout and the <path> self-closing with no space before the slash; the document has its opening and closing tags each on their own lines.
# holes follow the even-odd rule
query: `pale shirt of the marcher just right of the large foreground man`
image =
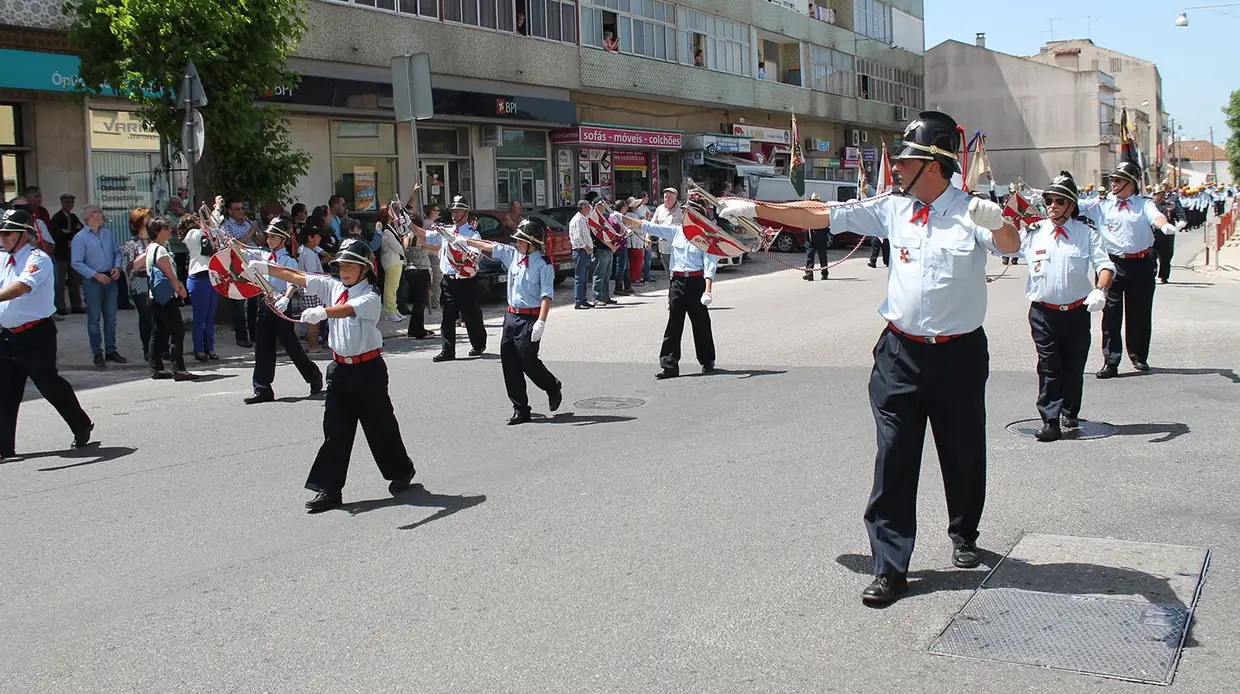
<svg viewBox="0 0 1240 694">
<path fill-rule="evenodd" d="M 1069 219 L 1063 227 L 1044 219 L 1022 233 L 1021 254 L 1029 266 L 1024 295 L 1042 304 L 1075 304 L 1094 289 L 1094 273 L 1115 271 L 1102 234 L 1080 219 Z"/>
</svg>

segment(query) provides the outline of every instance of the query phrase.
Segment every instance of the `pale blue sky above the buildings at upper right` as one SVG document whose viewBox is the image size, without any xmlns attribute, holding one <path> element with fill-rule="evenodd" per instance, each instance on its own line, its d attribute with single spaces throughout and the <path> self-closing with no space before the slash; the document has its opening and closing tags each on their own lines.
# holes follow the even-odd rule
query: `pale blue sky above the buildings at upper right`
<svg viewBox="0 0 1240 694">
<path fill-rule="evenodd" d="M 925 0 L 926 48 L 949 38 L 973 42 L 986 32 L 986 47 L 1029 56 L 1052 38 L 1092 38 L 1121 53 L 1158 64 L 1167 112 L 1183 124 L 1184 139 L 1207 139 L 1214 126 L 1214 141 L 1221 144 L 1229 131 L 1219 110 L 1240 77 L 1226 56 L 1240 36 L 1240 4 L 1220 10 L 1187 10 L 1188 26 L 1176 26 L 1185 6 L 1215 5 L 1215 0 L 1003 0 L 978 9 L 965 0 Z M 1086 20 L 1092 15 L 1094 19 Z"/>
</svg>

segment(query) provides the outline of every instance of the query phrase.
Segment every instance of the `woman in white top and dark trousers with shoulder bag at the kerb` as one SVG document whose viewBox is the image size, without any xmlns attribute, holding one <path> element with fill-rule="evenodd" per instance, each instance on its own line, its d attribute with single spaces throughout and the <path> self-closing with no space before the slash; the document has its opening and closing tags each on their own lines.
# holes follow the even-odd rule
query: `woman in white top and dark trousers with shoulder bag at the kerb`
<svg viewBox="0 0 1240 694">
<path fill-rule="evenodd" d="M 150 364 L 151 378 L 172 378 L 175 380 L 196 380 L 198 377 L 185 371 L 185 323 L 181 322 L 181 309 L 177 297 L 188 292 L 176 278 L 172 266 L 172 254 L 167 252 L 167 242 L 172 238 L 172 228 L 162 218 L 154 218 L 146 224 L 151 243 L 146 245 L 145 273 L 150 280 L 151 331 Z M 164 347 L 172 342 L 172 373 L 164 371 Z"/>
</svg>

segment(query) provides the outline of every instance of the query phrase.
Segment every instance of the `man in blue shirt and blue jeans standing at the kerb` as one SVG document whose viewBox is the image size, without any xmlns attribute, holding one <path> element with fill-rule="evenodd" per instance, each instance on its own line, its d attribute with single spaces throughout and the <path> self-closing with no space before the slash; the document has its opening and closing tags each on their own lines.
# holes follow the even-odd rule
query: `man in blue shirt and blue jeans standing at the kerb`
<svg viewBox="0 0 1240 694">
<path fill-rule="evenodd" d="M 117 280 L 120 279 L 120 249 L 112 232 L 103 226 L 103 211 L 94 204 L 86 206 L 86 228 L 73 237 L 73 270 L 82 275 L 82 294 L 86 297 L 86 332 L 91 338 L 94 366 L 108 362 L 123 364 L 129 359 L 117 352 Z M 103 317 L 103 338 L 99 337 L 99 317 Z M 100 345 L 102 342 L 102 345 Z"/>
</svg>

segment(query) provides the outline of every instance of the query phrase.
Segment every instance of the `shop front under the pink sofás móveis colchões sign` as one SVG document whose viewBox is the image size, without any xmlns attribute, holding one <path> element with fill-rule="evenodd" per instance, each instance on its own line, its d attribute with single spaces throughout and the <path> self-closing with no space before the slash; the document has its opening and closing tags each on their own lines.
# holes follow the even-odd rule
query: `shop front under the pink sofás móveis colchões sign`
<svg viewBox="0 0 1240 694">
<path fill-rule="evenodd" d="M 556 147 L 556 198 L 570 206 L 594 192 L 606 200 L 658 200 L 658 191 L 680 185 L 684 134 L 583 123 L 551 134 Z M 676 180 L 673 174 L 676 172 Z"/>
</svg>

